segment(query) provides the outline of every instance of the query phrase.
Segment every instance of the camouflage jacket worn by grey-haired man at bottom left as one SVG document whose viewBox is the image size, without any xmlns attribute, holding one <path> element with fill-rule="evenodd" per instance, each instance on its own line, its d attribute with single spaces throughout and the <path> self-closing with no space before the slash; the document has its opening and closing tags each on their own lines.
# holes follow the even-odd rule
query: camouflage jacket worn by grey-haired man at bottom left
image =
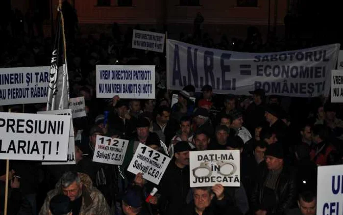
<svg viewBox="0 0 343 215">
<path fill-rule="evenodd" d="M 95 187 L 92 180 L 84 173 L 78 173 L 82 182 L 82 205 L 79 215 L 110 215 L 110 208 L 105 197 Z M 49 215 L 50 200 L 57 194 L 63 194 L 61 180 L 56 184 L 55 189 L 48 192 L 39 215 Z"/>
</svg>

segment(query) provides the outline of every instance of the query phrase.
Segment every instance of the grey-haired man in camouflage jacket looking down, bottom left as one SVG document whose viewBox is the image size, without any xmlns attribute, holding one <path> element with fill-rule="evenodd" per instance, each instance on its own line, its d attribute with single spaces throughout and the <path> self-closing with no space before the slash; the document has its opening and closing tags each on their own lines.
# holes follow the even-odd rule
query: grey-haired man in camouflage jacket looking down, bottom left
<svg viewBox="0 0 343 215">
<path fill-rule="evenodd" d="M 39 215 L 49 215 L 51 199 L 63 193 L 69 197 L 73 215 L 110 215 L 110 208 L 101 192 L 93 187 L 91 179 L 83 173 L 66 172 L 48 192 Z"/>
</svg>

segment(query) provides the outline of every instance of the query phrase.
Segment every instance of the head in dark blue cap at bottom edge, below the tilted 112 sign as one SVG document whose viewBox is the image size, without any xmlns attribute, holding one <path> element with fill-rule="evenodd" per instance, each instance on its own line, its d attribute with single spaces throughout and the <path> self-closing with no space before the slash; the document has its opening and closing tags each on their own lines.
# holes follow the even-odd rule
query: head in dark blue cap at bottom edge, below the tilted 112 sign
<svg viewBox="0 0 343 215">
<path fill-rule="evenodd" d="M 141 211 L 142 208 L 142 194 L 139 190 L 129 188 L 122 200 L 123 213 L 125 215 L 136 215 Z"/>
</svg>

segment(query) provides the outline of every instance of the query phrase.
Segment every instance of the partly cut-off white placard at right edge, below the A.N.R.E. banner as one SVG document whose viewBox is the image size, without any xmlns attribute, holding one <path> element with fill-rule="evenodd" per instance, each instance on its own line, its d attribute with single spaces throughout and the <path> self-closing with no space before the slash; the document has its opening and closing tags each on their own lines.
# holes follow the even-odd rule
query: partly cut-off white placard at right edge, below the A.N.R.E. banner
<svg viewBox="0 0 343 215">
<path fill-rule="evenodd" d="M 331 71 L 331 102 L 343 102 L 343 69 Z"/>
</svg>

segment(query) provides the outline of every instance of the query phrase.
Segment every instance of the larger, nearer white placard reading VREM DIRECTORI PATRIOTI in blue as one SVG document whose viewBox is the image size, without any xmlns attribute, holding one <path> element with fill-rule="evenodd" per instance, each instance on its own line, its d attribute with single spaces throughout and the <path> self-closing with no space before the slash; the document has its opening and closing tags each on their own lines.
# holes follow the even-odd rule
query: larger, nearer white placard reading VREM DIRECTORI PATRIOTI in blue
<svg viewBox="0 0 343 215">
<path fill-rule="evenodd" d="M 97 98 L 155 98 L 155 66 L 97 65 Z"/>
</svg>

